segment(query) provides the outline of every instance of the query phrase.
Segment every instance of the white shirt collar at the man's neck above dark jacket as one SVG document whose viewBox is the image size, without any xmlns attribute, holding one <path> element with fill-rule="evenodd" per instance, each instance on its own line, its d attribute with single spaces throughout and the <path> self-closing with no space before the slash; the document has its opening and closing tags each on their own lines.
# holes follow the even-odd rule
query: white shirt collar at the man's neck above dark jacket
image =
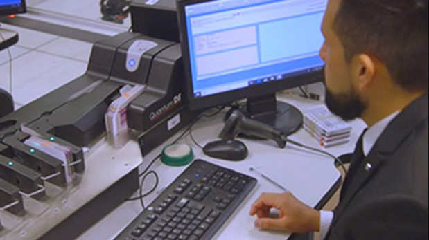
<svg viewBox="0 0 429 240">
<path fill-rule="evenodd" d="M 384 129 L 387 127 L 389 122 L 391 122 L 401 111 L 395 111 L 389 116 L 383 118 L 378 121 L 376 124 L 372 125 L 368 128 L 368 130 L 363 135 L 362 141 L 362 150 L 365 157 L 368 156 L 369 151 L 371 151 L 372 147 L 376 143 L 378 137 L 383 133 Z"/>
</svg>

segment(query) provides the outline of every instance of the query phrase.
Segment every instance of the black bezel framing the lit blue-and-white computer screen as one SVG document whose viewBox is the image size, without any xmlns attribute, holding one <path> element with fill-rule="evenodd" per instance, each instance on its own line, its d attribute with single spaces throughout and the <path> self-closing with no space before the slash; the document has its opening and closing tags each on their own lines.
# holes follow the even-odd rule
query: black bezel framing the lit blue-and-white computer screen
<svg viewBox="0 0 429 240">
<path fill-rule="evenodd" d="M 208 107 L 215 107 L 224 104 L 229 104 L 236 100 L 245 98 L 254 98 L 262 95 L 276 93 L 285 89 L 292 89 L 298 86 L 304 86 L 315 82 L 324 81 L 324 68 L 318 71 L 299 74 L 297 76 L 288 76 L 284 80 L 270 81 L 263 84 L 256 84 L 254 86 L 247 86 L 243 89 L 236 89 L 227 91 L 225 93 L 216 93 L 207 95 L 200 98 L 195 98 L 193 93 L 193 81 L 191 77 L 191 65 L 189 56 L 189 41 L 186 33 L 186 17 L 184 8 L 195 3 L 209 2 L 216 0 L 177 0 L 177 19 L 180 32 L 180 45 L 182 48 L 182 61 L 184 66 L 184 77 L 186 84 L 186 101 L 189 109 L 206 109 Z M 275 90 L 273 90 L 275 89 Z"/>
</svg>

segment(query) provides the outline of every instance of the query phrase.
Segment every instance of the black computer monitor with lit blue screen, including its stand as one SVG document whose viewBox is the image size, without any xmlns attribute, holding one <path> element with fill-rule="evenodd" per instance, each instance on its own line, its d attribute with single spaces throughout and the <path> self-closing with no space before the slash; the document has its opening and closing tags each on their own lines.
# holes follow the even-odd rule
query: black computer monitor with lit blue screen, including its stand
<svg viewBox="0 0 429 240">
<path fill-rule="evenodd" d="M 327 0 L 177 0 L 191 109 L 247 98 L 248 116 L 290 134 L 301 112 L 275 93 L 323 80 Z"/>
</svg>

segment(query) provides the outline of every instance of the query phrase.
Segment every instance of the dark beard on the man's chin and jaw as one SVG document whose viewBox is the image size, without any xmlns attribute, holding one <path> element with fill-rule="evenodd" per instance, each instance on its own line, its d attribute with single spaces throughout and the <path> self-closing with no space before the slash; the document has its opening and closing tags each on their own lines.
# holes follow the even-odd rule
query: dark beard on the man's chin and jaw
<svg viewBox="0 0 429 240">
<path fill-rule="evenodd" d="M 353 90 L 349 93 L 333 94 L 326 88 L 325 103 L 329 111 L 344 121 L 360 118 L 367 107 L 367 104 L 360 100 L 359 95 Z"/>
</svg>

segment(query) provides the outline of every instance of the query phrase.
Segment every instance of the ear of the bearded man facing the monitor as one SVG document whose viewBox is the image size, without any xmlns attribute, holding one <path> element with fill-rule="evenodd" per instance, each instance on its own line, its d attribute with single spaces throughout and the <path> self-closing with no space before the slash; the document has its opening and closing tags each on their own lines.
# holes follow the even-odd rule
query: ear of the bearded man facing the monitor
<svg viewBox="0 0 429 240">
<path fill-rule="evenodd" d="M 356 57 L 355 76 L 360 90 L 366 89 L 374 81 L 376 75 L 376 63 L 369 55 L 360 54 Z"/>
</svg>

